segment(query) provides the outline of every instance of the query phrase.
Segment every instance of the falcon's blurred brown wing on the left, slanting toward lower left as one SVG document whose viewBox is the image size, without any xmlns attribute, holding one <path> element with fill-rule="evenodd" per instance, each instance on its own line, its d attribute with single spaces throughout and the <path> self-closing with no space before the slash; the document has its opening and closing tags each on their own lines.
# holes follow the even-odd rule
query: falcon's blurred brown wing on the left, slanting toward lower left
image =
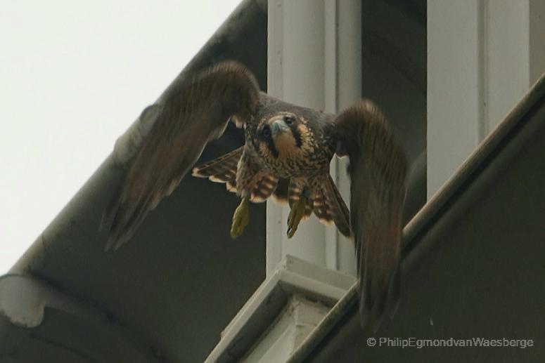
<svg viewBox="0 0 545 363">
<path fill-rule="evenodd" d="M 257 81 L 236 62 L 221 63 L 169 89 L 104 213 L 102 225 L 110 225 L 105 249 L 127 242 L 148 211 L 177 187 L 206 143 L 222 136 L 229 119 L 237 126 L 250 119 L 258 98 Z"/>
</svg>

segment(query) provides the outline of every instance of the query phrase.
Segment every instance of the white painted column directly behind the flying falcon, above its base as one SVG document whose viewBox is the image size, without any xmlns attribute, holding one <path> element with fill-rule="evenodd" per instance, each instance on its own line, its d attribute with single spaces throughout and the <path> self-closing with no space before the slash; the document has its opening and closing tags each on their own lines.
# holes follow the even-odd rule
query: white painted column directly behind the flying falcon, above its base
<svg viewBox="0 0 545 363">
<path fill-rule="evenodd" d="M 359 1 L 269 0 L 268 12 L 269 94 L 328 112 L 336 112 L 360 97 Z M 332 173 L 347 198 L 345 167 L 333 161 Z M 335 227 L 326 227 L 312 216 L 288 239 L 288 214 L 287 206 L 267 202 L 267 275 L 286 255 L 355 272 L 354 246 L 343 240 Z"/>
</svg>

